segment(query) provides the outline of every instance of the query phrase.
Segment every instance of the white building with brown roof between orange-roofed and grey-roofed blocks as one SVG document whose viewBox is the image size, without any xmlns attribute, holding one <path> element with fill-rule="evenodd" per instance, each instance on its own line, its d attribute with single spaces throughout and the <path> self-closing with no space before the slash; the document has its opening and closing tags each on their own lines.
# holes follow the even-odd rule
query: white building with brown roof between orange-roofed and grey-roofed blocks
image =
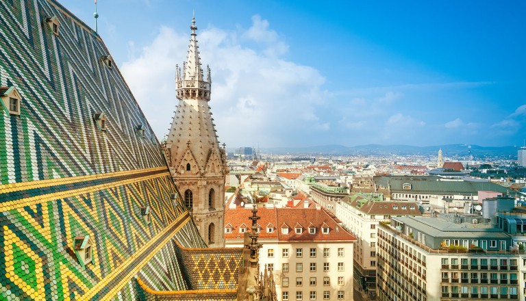
<svg viewBox="0 0 526 301">
<path fill-rule="evenodd" d="M 391 216 L 421 215 L 416 202 L 385 201 L 381 194 L 350 194 L 336 203 L 336 217 L 357 241 L 354 246 L 355 278 L 375 289 L 377 227 Z"/>
</svg>

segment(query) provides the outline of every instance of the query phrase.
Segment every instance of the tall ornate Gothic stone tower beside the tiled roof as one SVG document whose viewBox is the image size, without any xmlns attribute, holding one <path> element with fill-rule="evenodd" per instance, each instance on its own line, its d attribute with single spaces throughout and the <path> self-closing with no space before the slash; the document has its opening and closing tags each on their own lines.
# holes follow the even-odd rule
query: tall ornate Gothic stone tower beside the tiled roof
<svg viewBox="0 0 526 301">
<path fill-rule="evenodd" d="M 175 185 L 192 212 L 201 237 L 209 247 L 224 247 L 225 149 L 220 148 L 210 101 L 210 68 L 203 79 L 197 46 L 197 26 L 192 18 L 188 58 L 177 66 L 176 88 L 179 104 L 166 138 L 165 155 Z"/>
</svg>

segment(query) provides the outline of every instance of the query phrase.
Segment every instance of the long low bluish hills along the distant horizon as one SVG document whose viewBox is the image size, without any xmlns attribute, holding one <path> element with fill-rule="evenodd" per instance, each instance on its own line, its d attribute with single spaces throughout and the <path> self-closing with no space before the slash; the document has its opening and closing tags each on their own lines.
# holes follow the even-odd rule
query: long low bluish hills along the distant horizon
<svg viewBox="0 0 526 301">
<path fill-rule="evenodd" d="M 444 157 L 463 157 L 468 156 L 468 146 L 466 144 L 447 144 L 438 146 L 410 146 L 410 145 L 381 145 L 366 144 L 359 146 L 342 146 L 329 144 L 322 146 L 309 146 L 298 148 L 262 148 L 262 153 L 275 155 L 285 154 L 324 154 L 324 155 L 437 155 L 438 149 L 442 148 Z M 471 146 L 471 155 L 475 158 L 483 157 L 510 157 L 516 159 L 516 146 Z"/>
</svg>

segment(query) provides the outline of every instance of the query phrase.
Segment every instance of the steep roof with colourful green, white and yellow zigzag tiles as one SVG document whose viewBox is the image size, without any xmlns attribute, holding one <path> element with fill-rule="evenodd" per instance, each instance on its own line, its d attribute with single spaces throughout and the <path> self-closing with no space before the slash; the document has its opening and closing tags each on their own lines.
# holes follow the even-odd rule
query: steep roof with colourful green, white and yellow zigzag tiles
<svg viewBox="0 0 526 301">
<path fill-rule="evenodd" d="M 205 243 L 108 54 L 55 0 L 0 1 L 0 86 L 22 96 L 19 116 L 0 101 L 0 300 L 136 300 L 136 275 L 153 289 L 192 289 L 175 243 Z M 85 266 L 79 235 L 93 246 Z"/>
</svg>

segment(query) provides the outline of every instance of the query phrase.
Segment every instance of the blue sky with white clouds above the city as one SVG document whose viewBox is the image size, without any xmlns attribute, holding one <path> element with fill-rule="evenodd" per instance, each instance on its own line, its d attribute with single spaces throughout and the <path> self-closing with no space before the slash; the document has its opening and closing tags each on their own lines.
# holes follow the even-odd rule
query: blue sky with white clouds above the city
<svg viewBox="0 0 526 301">
<path fill-rule="evenodd" d="M 93 1 L 59 1 L 95 27 Z M 526 1 L 99 0 L 97 10 L 159 138 L 195 10 L 227 147 L 526 139 Z"/>
</svg>

